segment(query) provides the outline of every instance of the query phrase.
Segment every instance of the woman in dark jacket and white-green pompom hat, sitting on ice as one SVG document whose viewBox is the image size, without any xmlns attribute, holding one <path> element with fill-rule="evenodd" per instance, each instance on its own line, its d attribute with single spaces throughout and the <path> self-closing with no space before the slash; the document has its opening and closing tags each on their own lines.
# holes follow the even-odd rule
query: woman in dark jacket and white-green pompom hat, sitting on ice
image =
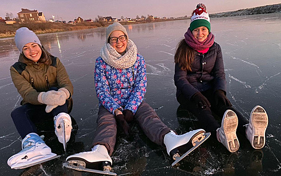
<svg viewBox="0 0 281 176">
<path fill-rule="evenodd" d="M 248 121 L 227 99 L 222 51 L 220 45 L 214 42 L 205 5 L 197 5 L 184 36 L 175 54 L 174 80 L 178 102 L 193 113 L 202 128 L 211 132 L 230 152 L 239 149 L 237 127 L 253 148 L 262 148 L 268 124 L 267 114 L 261 106 L 256 106 Z M 221 125 L 212 111 L 222 118 Z"/>
</svg>

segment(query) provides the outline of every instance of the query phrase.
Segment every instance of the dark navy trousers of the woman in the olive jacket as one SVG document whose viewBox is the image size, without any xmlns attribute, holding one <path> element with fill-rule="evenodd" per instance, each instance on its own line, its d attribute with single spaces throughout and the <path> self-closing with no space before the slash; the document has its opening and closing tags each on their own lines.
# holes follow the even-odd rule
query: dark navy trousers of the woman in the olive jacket
<svg viewBox="0 0 281 176">
<path fill-rule="evenodd" d="M 57 87 L 51 87 L 50 91 L 57 91 Z M 59 113 L 68 113 L 68 101 L 62 106 L 58 106 L 50 113 L 46 113 L 45 108 L 47 105 L 33 105 L 30 103 L 24 104 L 16 108 L 12 113 L 14 124 L 22 138 L 25 138 L 29 133 L 37 133 L 35 123 L 54 118 Z"/>
</svg>

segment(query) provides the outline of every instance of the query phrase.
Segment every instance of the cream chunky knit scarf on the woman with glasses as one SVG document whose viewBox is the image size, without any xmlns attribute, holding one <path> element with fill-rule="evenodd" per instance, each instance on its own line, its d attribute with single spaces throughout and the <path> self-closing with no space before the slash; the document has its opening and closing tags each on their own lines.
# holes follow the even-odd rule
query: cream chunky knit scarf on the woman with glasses
<svg viewBox="0 0 281 176">
<path fill-rule="evenodd" d="M 136 53 L 137 48 L 131 40 L 128 40 L 124 55 L 119 54 L 109 43 L 105 43 L 100 50 L 101 58 L 108 65 L 120 69 L 131 67 L 136 61 Z"/>
</svg>

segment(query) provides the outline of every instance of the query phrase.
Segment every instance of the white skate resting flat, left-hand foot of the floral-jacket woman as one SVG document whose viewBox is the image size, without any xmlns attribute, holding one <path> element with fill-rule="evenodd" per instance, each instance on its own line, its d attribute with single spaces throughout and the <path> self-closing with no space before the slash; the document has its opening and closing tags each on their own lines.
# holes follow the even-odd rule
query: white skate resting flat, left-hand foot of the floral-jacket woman
<svg viewBox="0 0 281 176">
<path fill-rule="evenodd" d="M 92 151 L 81 152 L 66 158 L 63 166 L 78 171 L 117 175 L 111 172 L 112 160 L 104 145 L 95 145 Z M 101 170 L 102 169 L 102 170 Z"/>
</svg>

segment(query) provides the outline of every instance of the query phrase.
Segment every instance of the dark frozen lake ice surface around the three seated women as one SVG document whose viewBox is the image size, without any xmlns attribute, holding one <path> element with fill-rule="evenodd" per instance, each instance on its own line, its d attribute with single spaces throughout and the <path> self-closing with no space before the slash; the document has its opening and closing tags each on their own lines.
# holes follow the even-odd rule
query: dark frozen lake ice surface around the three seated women
<svg viewBox="0 0 281 176">
<path fill-rule="evenodd" d="M 126 25 L 129 38 L 146 60 L 148 87 L 145 100 L 170 128 L 179 134 L 198 128 L 188 112 L 177 116 L 179 106 L 174 85 L 174 54 L 189 20 Z M 224 146 L 208 139 L 176 167 L 166 150 L 152 143 L 131 124 L 130 138 L 118 133 L 112 155 L 118 175 L 281 175 L 281 13 L 211 19 L 215 41 L 221 45 L 227 79 L 227 97 L 234 108 L 249 118 L 255 105 L 269 117 L 266 144 L 254 150 L 238 135 L 240 148 L 231 154 Z M 66 153 L 54 133 L 53 123 L 39 125 L 40 134 L 60 158 L 27 169 L 13 170 L 8 158 L 21 150 L 21 137 L 10 116 L 20 106 L 21 96 L 11 76 L 10 66 L 19 57 L 13 38 L 0 39 L 0 175 L 98 175 L 62 167 L 66 157 L 90 150 L 98 101 L 93 70 L 105 42 L 105 28 L 39 35 L 41 43 L 65 65 L 74 86 L 75 125 Z M 40 118 L 40 115 L 38 115 Z"/>
</svg>

